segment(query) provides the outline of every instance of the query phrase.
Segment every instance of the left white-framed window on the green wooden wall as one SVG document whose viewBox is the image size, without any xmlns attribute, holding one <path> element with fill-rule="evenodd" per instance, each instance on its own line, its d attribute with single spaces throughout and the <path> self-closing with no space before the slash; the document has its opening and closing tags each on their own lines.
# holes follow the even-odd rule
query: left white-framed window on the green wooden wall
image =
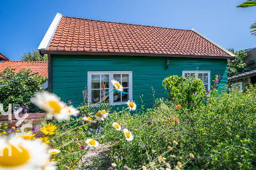
<svg viewBox="0 0 256 170">
<path fill-rule="evenodd" d="M 113 79 L 122 84 L 123 92 L 114 89 L 111 83 Z M 101 101 L 109 92 L 111 94 L 106 100 L 113 105 L 132 100 L 132 72 L 88 72 L 88 93 L 92 104 Z"/>
</svg>

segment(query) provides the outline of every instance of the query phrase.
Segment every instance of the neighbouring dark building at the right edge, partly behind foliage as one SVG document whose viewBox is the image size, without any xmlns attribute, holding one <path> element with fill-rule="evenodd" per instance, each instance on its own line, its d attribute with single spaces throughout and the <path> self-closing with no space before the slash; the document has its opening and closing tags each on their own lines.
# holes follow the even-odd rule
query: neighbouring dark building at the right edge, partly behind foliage
<svg viewBox="0 0 256 170">
<path fill-rule="evenodd" d="M 244 63 L 247 64 L 247 67 L 251 67 L 251 70 L 229 77 L 229 86 L 232 89 L 239 87 L 240 90 L 246 90 L 249 84 L 256 83 L 256 48 L 247 49 L 245 51 L 247 56 L 244 58 Z"/>
</svg>

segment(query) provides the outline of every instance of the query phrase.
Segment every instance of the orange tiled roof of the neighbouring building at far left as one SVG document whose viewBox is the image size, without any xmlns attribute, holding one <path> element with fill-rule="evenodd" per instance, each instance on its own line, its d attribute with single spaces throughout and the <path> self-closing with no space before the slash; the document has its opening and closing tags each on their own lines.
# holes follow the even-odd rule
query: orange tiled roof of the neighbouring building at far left
<svg viewBox="0 0 256 170">
<path fill-rule="evenodd" d="M 41 77 L 48 77 L 48 61 L 5 61 L 0 63 L 0 72 L 7 67 L 15 69 L 15 72 L 19 72 L 21 69 L 31 69 L 32 73 L 37 73 Z"/>
</svg>

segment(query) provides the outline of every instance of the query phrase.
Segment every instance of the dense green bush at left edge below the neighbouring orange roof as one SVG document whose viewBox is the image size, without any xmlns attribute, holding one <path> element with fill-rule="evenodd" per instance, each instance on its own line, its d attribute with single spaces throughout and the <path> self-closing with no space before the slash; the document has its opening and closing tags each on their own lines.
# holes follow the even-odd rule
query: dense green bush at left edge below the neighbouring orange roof
<svg viewBox="0 0 256 170">
<path fill-rule="evenodd" d="M 6 79 L 17 79 L 22 78 L 31 74 L 31 70 L 20 70 L 20 72 L 15 73 L 15 69 L 7 67 L 4 71 L 0 72 L 1 79 L 0 84 L 9 84 L 10 80 Z M 43 78 L 40 75 L 33 75 L 31 77 L 23 78 L 18 81 L 13 81 L 10 83 L 11 86 L 0 87 L 0 103 L 4 104 L 4 110 L 7 110 L 8 104 L 22 104 L 27 103 L 30 112 L 42 112 L 34 104 L 30 103 L 30 97 L 35 95 L 35 92 L 44 90 L 41 86 L 48 78 Z M 20 84 L 20 85 L 17 85 Z M 16 85 L 16 86 L 13 86 Z"/>
</svg>

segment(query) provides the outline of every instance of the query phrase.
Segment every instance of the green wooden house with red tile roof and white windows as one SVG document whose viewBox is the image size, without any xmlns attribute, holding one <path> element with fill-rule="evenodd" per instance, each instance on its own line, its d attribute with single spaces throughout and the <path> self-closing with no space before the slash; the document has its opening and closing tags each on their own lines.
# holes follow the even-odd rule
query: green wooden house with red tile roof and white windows
<svg viewBox="0 0 256 170">
<path fill-rule="evenodd" d="M 145 107 L 152 106 L 152 89 L 155 97 L 166 98 L 162 81 L 171 75 L 196 75 L 210 90 L 218 74 L 220 84 L 227 85 L 227 59 L 235 56 L 195 30 L 71 18 L 60 13 L 38 50 L 48 54 L 49 91 L 76 106 L 82 103 L 85 88 L 91 103 L 101 100 L 102 83 L 108 94 L 113 90 L 112 79 L 121 82 L 124 91 L 114 90 L 110 102 L 123 105 L 134 100 L 139 107 L 141 100 Z"/>
</svg>

